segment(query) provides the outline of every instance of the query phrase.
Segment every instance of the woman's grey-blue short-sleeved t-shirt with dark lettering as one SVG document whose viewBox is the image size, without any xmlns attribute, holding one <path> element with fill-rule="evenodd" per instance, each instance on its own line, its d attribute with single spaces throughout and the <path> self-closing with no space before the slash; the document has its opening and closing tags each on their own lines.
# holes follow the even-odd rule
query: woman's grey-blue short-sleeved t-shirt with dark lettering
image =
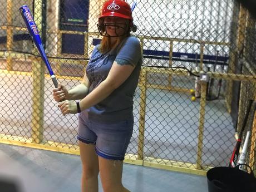
<svg viewBox="0 0 256 192">
<path fill-rule="evenodd" d="M 105 54 L 100 53 L 97 45 L 88 62 L 86 75 L 90 81 L 89 92 L 104 81 L 109 74 L 110 68 L 115 60 L 121 59 L 136 65 L 134 71 L 122 83 L 122 85 L 111 93 L 99 104 L 83 111 L 88 118 L 96 121 L 115 122 L 132 118 L 133 96 L 139 80 L 142 55 L 140 42 L 136 37 L 125 38 L 120 45 L 119 52 L 116 50 Z"/>
</svg>

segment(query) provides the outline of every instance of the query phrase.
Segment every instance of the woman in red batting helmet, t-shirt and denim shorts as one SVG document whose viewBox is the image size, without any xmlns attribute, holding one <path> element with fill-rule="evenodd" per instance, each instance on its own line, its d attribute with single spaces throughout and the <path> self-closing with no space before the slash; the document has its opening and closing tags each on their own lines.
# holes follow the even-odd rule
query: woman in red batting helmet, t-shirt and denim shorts
<svg viewBox="0 0 256 192">
<path fill-rule="evenodd" d="M 133 95 L 141 69 L 141 49 L 129 4 L 104 3 L 97 27 L 102 36 L 80 85 L 53 89 L 62 114 L 79 115 L 78 142 L 82 161 L 82 191 L 98 191 L 100 173 L 105 192 L 129 191 L 122 185 L 122 164 L 132 135 Z M 75 102 L 73 100 L 80 100 Z"/>
</svg>

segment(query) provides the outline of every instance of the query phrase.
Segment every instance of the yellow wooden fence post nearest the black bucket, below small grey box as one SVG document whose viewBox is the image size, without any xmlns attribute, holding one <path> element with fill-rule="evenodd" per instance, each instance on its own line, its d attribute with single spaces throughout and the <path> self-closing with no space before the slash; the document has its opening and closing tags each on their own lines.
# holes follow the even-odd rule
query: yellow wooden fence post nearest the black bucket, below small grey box
<svg viewBox="0 0 256 192">
<path fill-rule="evenodd" d="M 199 114 L 200 116 L 199 116 L 199 129 L 198 129 L 198 150 L 197 150 L 197 157 L 196 157 L 196 169 L 202 169 L 205 103 L 206 103 L 206 82 L 201 81 L 201 98 L 200 98 L 200 114 Z"/>
</svg>

